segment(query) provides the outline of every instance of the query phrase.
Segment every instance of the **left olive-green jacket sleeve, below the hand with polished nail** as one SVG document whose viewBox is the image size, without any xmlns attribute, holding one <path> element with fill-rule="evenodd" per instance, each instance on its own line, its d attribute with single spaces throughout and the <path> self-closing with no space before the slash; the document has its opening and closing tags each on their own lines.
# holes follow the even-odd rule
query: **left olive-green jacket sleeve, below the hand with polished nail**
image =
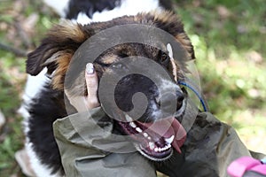
<svg viewBox="0 0 266 177">
<path fill-rule="evenodd" d="M 156 176 L 153 165 L 131 142 L 113 136 L 113 122 L 105 117 L 101 108 L 95 108 L 54 122 L 66 176 Z"/>
</svg>

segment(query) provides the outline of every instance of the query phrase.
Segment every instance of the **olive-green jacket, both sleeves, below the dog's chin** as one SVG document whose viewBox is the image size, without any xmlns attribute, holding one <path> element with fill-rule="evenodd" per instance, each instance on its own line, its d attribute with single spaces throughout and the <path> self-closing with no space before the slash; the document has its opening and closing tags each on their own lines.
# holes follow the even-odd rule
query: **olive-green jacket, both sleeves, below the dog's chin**
<svg viewBox="0 0 266 177">
<path fill-rule="evenodd" d="M 187 133 L 182 154 L 175 152 L 167 163 L 153 164 L 136 150 L 130 151 L 134 146 L 126 139 L 113 136 L 112 120 L 104 117 L 105 112 L 95 108 L 54 122 L 66 176 L 154 177 L 160 171 L 171 177 L 223 177 L 236 158 L 265 157 L 247 150 L 232 127 L 200 112 Z M 125 149 L 129 151 L 124 153 Z"/>
</svg>

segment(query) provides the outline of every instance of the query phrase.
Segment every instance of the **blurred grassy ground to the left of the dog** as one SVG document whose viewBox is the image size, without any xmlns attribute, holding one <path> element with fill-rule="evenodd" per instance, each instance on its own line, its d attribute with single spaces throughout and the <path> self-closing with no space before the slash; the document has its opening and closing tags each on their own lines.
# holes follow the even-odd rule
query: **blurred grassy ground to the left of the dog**
<svg viewBox="0 0 266 177">
<path fill-rule="evenodd" d="M 23 24 L 35 13 L 37 20 L 31 31 L 27 32 L 30 45 L 15 28 Z M 30 51 L 43 38 L 43 35 L 58 21 L 58 17 L 41 2 L 33 0 L 3 1 L 0 5 L 0 41 L 14 48 Z M 24 41 L 23 41 L 24 40 Z M 0 50 L 0 110 L 4 113 L 6 124 L 0 130 L 0 176 L 23 176 L 14 159 L 14 153 L 23 148 L 22 118 L 17 113 L 26 81 L 26 58 L 19 58 L 5 50 Z"/>
</svg>

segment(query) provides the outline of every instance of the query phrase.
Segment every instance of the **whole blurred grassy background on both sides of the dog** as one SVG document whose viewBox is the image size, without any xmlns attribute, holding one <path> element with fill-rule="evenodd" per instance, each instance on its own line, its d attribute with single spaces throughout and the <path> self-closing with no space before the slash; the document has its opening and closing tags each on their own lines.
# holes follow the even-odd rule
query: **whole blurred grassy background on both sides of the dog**
<svg viewBox="0 0 266 177">
<path fill-rule="evenodd" d="M 235 127 L 249 149 L 266 153 L 265 1 L 176 0 L 176 12 L 195 47 L 211 112 Z M 0 0 L 1 177 L 23 176 L 14 153 L 24 141 L 17 110 L 27 78 L 25 58 L 58 20 L 40 1 Z"/>
</svg>

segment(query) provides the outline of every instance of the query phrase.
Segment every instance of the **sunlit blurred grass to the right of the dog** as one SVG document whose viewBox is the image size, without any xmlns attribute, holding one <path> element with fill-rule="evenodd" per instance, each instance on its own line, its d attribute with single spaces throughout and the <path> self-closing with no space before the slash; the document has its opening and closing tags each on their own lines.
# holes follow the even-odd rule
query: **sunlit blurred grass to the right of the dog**
<svg viewBox="0 0 266 177">
<path fill-rule="evenodd" d="M 179 1 L 178 1 L 179 2 Z M 266 4 L 186 1 L 177 5 L 210 110 L 252 150 L 266 152 Z"/>
</svg>

